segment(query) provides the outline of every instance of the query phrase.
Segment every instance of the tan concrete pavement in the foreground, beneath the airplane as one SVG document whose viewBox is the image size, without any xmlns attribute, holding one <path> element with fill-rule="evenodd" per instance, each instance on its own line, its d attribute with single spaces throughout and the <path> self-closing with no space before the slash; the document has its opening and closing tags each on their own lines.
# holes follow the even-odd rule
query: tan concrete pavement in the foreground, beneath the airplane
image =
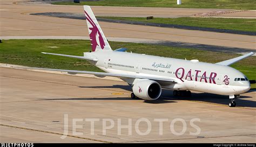
<svg viewBox="0 0 256 147">
<path fill-rule="evenodd" d="M 0 68 L 1 81 L 1 142 L 97 142 L 97 143 L 178 143 L 178 142 L 256 142 L 256 92 L 242 94 L 238 107 L 229 108 L 227 96 L 193 93 L 190 98 L 173 97 L 171 91 L 157 101 L 130 99 L 130 87 L 125 82 L 84 78 Z M 64 115 L 69 117 L 69 136 L 60 137 L 64 131 Z M 90 122 L 77 122 L 82 135 L 72 134 L 71 118 L 110 118 L 117 124 L 128 124 L 132 118 L 132 135 L 123 128 L 118 135 L 117 125 L 103 135 L 102 121 L 95 122 L 95 135 L 91 135 Z M 138 135 L 134 124 L 139 118 L 152 123 L 150 134 Z M 163 135 L 159 135 L 159 123 L 154 118 L 166 118 Z M 176 118 L 185 120 L 187 129 L 183 135 L 174 135 L 170 123 Z M 190 121 L 201 129 L 200 134 Z M 177 132 L 181 122 L 175 123 Z M 146 123 L 139 125 L 146 130 Z"/>
</svg>

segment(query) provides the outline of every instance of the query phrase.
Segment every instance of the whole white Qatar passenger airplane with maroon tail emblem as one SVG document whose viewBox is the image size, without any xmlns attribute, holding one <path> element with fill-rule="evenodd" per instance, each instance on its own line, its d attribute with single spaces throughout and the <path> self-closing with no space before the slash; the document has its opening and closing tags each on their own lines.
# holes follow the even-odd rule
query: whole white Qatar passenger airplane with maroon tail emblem
<svg viewBox="0 0 256 147">
<path fill-rule="evenodd" d="M 228 95 L 229 107 L 235 107 L 235 99 L 250 90 L 250 82 L 244 74 L 230 67 L 235 62 L 254 53 L 221 61 L 215 64 L 198 60 L 182 60 L 154 55 L 126 52 L 126 48 L 112 50 L 90 6 L 84 5 L 92 51 L 83 56 L 60 55 L 89 61 L 104 72 L 73 71 L 65 69 L 33 68 L 69 74 L 93 74 L 99 77 L 114 76 L 131 85 L 132 99 L 157 100 L 162 89 L 173 90 L 174 96 L 191 96 L 191 91 Z"/>
</svg>

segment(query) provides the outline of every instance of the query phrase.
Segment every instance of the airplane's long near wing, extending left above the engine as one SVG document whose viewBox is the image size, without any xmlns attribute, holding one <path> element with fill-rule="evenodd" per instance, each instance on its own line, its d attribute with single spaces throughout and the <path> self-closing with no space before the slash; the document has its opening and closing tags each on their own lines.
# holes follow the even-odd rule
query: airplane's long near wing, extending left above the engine
<svg viewBox="0 0 256 147">
<path fill-rule="evenodd" d="M 177 83 L 176 79 L 173 78 L 158 78 L 156 76 L 144 76 L 144 75 L 130 75 L 130 74 L 114 74 L 114 73 L 103 73 L 103 72 L 89 72 L 89 71 L 73 71 L 66 69 L 50 69 L 50 68 L 25 68 L 25 69 L 40 69 L 47 71 L 58 71 L 58 72 L 68 72 L 69 74 L 93 74 L 96 76 L 114 76 L 122 79 L 149 79 L 154 81 Z"/>
</svg>

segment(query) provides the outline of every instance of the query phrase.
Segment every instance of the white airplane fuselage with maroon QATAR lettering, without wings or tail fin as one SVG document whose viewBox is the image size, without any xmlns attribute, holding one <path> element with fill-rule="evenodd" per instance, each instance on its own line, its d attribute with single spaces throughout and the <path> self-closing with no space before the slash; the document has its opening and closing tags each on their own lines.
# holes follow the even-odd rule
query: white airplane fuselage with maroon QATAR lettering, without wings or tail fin
<svg viewBox="0 0 256 147">
<path fill-rule="evenodd" d="M 154 75 L 178 81 L 171 85 L 160 83 L 166 89 L 196 90 L 220 95 L 239 95 L 250 90 L 246 76 L 229 66 L 116 51 L 98 51 L 85 55 L 96 57 L 98 61 L 92 64 L 108 73 Z M 235 78 L 246 80 L 235 81 Z M 125 81 L 133 84 L 129 80 Z"/>
</svg>

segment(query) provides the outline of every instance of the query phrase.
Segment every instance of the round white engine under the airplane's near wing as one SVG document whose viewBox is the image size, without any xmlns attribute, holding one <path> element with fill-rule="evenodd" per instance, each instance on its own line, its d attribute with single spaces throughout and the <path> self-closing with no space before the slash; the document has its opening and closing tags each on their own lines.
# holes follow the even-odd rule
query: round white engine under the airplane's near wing
<svg viewBox="0 0 256 147">
<path fill-rule="evenodd" d="M 161 95 L 161 86 L 158 82 L 147 79 L 140 79 L 133 84 L 134 95 L 144 100 L 156 100 Z"/>
</svg>

